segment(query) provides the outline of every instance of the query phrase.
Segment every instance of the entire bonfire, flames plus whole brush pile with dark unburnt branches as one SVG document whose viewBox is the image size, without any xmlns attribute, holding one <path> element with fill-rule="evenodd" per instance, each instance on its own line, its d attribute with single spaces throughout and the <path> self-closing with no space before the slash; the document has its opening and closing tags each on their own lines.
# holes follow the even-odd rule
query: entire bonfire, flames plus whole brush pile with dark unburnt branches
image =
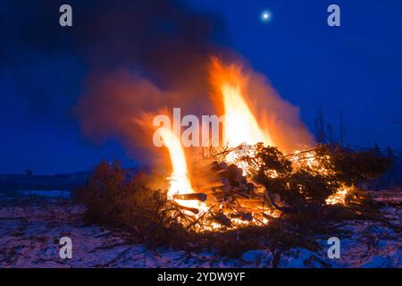
<svg viewBox="0 0 402 286">
<path fill-rule="evenodd" d="M 118 116 L 113 122 L 139 123 L 142 131 L 130 132 L 129 142 L 146 141 L 144 147 L 152 149 L 148 154 L 159 160 L 135 175 L 119 164 L 100 164 L 79 192 L 86 220 L 121 228 L 129 240 L 145 243 L 155 253 L 157 246 L 214 247 L 238 257 L 267 245 L 278 256 L 296 246 L 317 250 L 315 235 L 333 233 L 348 220 L 379 219 L 379 208 L 362 186 L 386 172 L 389 159 L 340 144 L 315 144 L 297 108 L 261 79 L 239 64 L 213 59 L 211 95 L 205 101 L 213 103 L 211 114 L 220 125 L 212 130 L 204 115 L 201 130 L 195 128 L 200 125 L 196 115 L 187 117 L 191 123 L 183 117 L 177 124 L 180 102 L 172 102 L 177 104 L 172 116 L 161 116 L 166 111 L 162 100 L 167 105 L 177 98 L 152 88 L 153 109 L 145 115 L 138 109 L 135 118 L 128 109 L 126 120 Z M 149 91 L 149 83 L 145 86 Z M 141 95 L 143 88 L 128 88 L 122 98 L 131 98 L 131 91 Z M 109 105 L 103 107 L 106 114 L 115 113 Z M 197 105 L 192 107 L 197 112 Z M 203 144 L 194 146 L 200 137 Z"/>
</svg>

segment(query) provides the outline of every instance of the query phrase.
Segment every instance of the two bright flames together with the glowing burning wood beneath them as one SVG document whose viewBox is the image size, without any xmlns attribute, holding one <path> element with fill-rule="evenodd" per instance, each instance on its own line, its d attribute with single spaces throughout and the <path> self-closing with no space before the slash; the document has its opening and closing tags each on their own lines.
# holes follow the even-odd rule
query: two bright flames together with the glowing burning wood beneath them
<svg viewBox="0 0 402 286">
<path fill-rule="evenodd" d="M 265 226 L 283 214 L 345 206 L 352 193 L 357 198 L 358 181 L 339 169 L 353 152 L 334 145 L 281 152 L 281 140 L 248 103 L 247 75 L 239 66 L 213 62 L 213 98 L 224 113 L 221 145 L 204 147 L 196 158 L 203 164 L 190 173 L 180 136 L 157 130 L 171 159 L 167 198 L 182 210 L 180 223 L 197 231 Z"/>
</svg>

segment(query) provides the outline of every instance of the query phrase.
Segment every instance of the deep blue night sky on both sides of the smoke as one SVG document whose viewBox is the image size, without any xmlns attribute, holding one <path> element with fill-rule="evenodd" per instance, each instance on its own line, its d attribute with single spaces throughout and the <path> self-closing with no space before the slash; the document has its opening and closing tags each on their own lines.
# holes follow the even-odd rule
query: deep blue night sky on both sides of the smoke
<svg viewBox="0 0 402 286">
<path fill-rule="evenodd" d="M 38 3 L 4 1 L 0 7 L 0 173 L 27 168 L 34 173 L 78 172 L 103 158 L 134 165 L 117 140 L 96 144 L 83 136 L 72 112 L 88 62 L 69 33 L 80 32 L 86 19 L 80 18 L 80 9 L 91 9 L 89 4 L 71 1 L 73 22 L 75 14 L 80 19 L 71 32 L 56 27 L 57 5 L 44 9 L 47 2 Z M 335 129 L 342 109 L 348 144 L 402 147 L 402 2 L 185 3 L 221 19 L 224 31 L 213 35 L 214 43 L 229 46 L 263 72 L 281 97 L 299 106 L 312 132 L 318 106 Z M 339 4 L 341 27 L 327 25 L 329 4 Z M 271 21 L 261 21 L 264 10 L 272 14 Z M 48 21 L 55 26 L 46 25 Z M 135 25 L 125 24 L 125 30 Z"/>
</svg>

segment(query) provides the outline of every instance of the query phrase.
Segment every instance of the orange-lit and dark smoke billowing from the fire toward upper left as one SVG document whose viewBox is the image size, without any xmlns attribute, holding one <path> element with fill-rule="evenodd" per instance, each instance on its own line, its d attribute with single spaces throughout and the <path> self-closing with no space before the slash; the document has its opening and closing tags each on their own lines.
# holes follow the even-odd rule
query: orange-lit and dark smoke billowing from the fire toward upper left
<svg viewBox="0 0 402 286">
<path fill-rule="evenodd" d="M 148 160 L 145 154 L 153 153 L 139 152 L 152 145 L 152 135 L 138 119 L 173 107 L 182 114 L 216 114 L 210 100 L 211 55 L 225 63 L 245 62 L 224 47 L 230 37 L 219 16 L 196 13 L 182 1 L 71 0 L 73 26 L 68 29 L 59 26 L 60 13 L 55 13 L 62 4 L 10 1 L 8 9 L 23 12 L 15 21 L 18 36 L 4 29 L 13 40 L 0 47 L 0 56 L 7 64 L 15 46 L 29 46 L 32 52 L 72 57 L 85 66 L 83 94 L 73 108 L 83 134 L 99 142 L 118 139 L 136 159 Z M 3 12 L 4 21 L 13 22 Z M 278 146 L 289 150 L 311 144 L 297 108 L 283 101 L 263 75 L 247 72 L 247 100 L 255 114 L 267 118 L 270 130 L 275 126 Z M 52 100 L 59 101 L 57 96 Z"/>
</svg>

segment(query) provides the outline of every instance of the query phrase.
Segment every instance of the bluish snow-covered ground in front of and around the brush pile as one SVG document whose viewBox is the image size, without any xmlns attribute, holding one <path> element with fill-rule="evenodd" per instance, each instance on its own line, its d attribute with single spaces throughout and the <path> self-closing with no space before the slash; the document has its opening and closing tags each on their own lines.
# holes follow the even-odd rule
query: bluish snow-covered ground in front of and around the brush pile
<svg viewBox="0 0 402 286">
<path fill-rule="evenodd" d="M 44 194 L 45 193 L 45 194 Z M 0 267 L 271 267 L 269 250 L 250 250 L 238 259 L 213 251 L 188 253 L 171 248 L 151 250 L 129 244 L 119 231 L 86 225 L 83 207 L 72 205 L 63 191 L 22 191 L 0 198 Z M 280 267 L 401 267 L 400 198 L 381 192 L 385 223 L 352 221 L 339 237 L 340 258 L 327 257 L 327 238 L 317 238 L 322 251 L 293 248 L 281 254 Z M 399 203 L 398 203 L 399 202 Z M 390 224 L 389 224 L 390 223 Z M 393 225 L 393 227 L 390 227 Z M 397 226 L 397 228 L 396 228 Z M 72 258 L 59 255 L 60 239 L 70 237 Z"/>
</svg>

